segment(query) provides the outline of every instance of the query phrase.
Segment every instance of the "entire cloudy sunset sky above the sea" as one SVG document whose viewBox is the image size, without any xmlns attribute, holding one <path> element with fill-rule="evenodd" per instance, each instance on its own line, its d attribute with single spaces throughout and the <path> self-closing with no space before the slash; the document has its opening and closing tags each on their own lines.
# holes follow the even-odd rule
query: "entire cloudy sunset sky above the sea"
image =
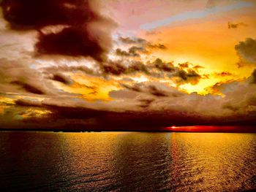
<svg viewBox="0 0 256 192">
<path fill-rule="evenodd" d="M 256 1 L 0 5 L 0 128 L 256 124 Z"/>
</svg>

